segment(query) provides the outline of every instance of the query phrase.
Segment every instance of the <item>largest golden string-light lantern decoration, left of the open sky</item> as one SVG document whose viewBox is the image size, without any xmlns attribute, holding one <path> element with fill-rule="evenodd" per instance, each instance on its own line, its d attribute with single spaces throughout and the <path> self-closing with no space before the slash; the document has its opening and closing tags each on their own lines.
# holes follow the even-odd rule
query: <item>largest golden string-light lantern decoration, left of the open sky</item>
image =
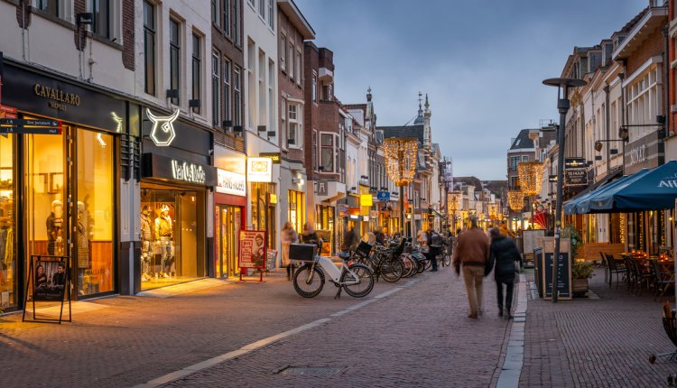
<svg viewBox="0 0 677 388">
<path fill-rule="evenodd" d="M 389 137 L 384 140 L 388 177 L 396 186 L 406 186 L 416 173 L 418 140 L 413 137 Z"/>
</svg>

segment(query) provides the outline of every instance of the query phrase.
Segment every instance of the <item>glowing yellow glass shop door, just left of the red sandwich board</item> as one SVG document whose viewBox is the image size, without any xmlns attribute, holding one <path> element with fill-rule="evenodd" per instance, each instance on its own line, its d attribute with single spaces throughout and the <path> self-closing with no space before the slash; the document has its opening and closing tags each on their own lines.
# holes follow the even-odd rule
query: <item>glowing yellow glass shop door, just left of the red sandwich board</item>
<svg viewBox="0 0 677 388">
<path fill-rule="evenodd" d="M 236 276 L 239 273 L 237 249 L 241 225 L 242 210 L 239 207 L 218 207 L 218 277 Z"/>
</svg>

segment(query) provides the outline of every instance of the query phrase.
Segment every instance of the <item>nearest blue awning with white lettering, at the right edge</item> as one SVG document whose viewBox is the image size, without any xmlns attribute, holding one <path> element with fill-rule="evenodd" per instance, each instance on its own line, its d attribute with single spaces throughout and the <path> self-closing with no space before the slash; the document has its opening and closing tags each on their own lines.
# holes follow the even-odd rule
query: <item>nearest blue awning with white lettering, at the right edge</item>
<svg viewBox="0 0 677 388">
<path fill-rule="evenodd" d="M 581 203 L 585 213 L 628 213 L 673 208 L 677 199 L 677 162 L 642 170 Z M 578 208 L 578 207 L 577 207 Z"/>
</svg>

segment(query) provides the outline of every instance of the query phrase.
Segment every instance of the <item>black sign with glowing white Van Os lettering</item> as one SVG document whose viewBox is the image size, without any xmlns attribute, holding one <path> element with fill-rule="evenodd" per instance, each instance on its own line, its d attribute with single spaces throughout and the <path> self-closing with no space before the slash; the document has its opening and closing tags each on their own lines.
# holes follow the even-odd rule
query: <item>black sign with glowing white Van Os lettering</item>
<svg viewBox="0 0 677 388">
<path fill-rule="evenodd" d="M 218 183 L 215 167 L 168 158 L 156 153 L 144 153 L 143 175 L 144 178 L 172 180 L 200 186 L 216 186 Z"/>
</svg>

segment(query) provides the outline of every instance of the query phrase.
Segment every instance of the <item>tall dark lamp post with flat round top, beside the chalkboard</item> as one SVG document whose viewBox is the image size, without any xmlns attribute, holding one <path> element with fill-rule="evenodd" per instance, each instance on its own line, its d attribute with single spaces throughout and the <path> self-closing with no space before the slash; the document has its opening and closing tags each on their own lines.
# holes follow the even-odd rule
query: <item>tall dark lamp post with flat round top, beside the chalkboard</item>
<svg viewBox="0 0 677 388">
<path fill-rule="evenodd" d="M 557 202 L 555 203 L 555 252 L 552 255 L 552 303 L 557 303 L 557 270 L 560 262 L 561 197 L 564 180 L 564 131 L 569 111 L 569 88 L 578 88 L 588 83 L 582 79 L 544 79 L 543 85 L 557 88 L 557 109 L 560 112 L 560 127 L 557 133 Z M 563 95 L 562 95 L 563 92 Z"/>
</svg>

